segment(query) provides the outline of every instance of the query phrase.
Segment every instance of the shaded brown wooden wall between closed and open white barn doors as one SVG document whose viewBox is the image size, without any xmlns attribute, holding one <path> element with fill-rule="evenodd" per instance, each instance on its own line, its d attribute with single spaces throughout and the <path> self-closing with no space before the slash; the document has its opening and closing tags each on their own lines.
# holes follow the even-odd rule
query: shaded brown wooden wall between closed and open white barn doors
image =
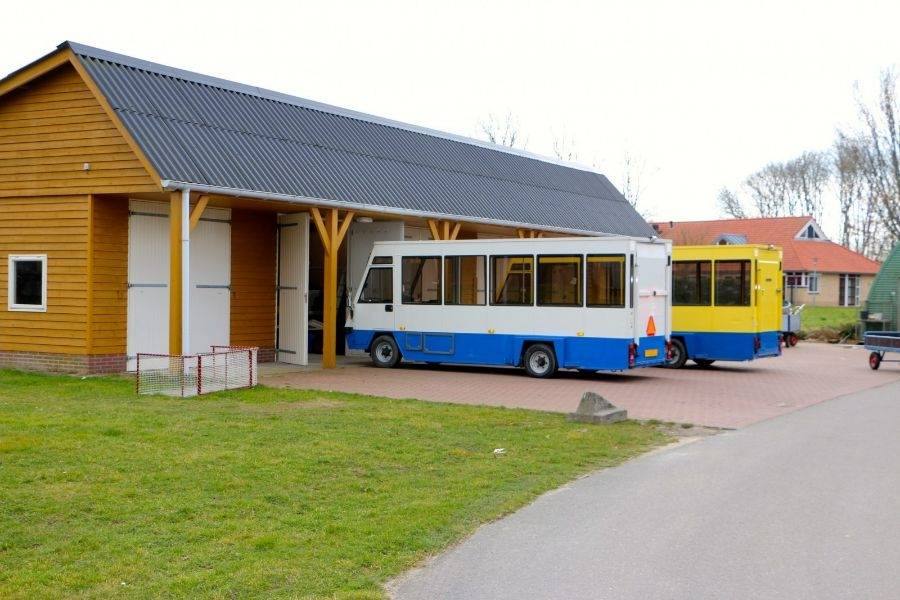
<svg viewBox="0 0 900 600">
<path fill-rule="evenodd" d="M 275 227 L 272 212 L 231 213 L 231 344 L 275 346 Z"/>
</svg>

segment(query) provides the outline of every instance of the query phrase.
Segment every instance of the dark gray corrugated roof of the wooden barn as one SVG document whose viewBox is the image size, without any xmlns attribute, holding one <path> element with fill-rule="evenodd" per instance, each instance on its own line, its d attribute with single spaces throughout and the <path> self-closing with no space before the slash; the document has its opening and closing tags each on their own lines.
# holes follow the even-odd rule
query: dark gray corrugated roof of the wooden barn
<svg viewBox="0 0 900 600">
<path fill-rule="evenodd" d="M 654 234 L 600 173 L 72 42 L 164 180 L 579 232 Z"/>
</svg>

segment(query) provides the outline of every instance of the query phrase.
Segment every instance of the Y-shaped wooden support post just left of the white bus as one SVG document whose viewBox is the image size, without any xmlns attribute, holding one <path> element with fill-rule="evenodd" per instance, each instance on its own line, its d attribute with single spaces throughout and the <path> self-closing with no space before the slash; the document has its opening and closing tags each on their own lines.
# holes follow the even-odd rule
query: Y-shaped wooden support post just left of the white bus
<svg viewBox="0 0 900 600">
<path fill-rule="evenodd" d="M 323 218 L 323 214 L 324 218 Z M 326 208 L 320 210 L 312 207 L 310 214 L 313 223 L 322 239 L 322 249 L 325 251 L 325 280 L 323 287 L 322 307 L 322 368 L 333 369 L 337 366 L 337 283 L 338 283 L 338 255 L 341 243 L 350 224 L 353 222 L 353 211 L 347 211 L 343 221 L 339 218 L 338 209 Z"/>
</svg>

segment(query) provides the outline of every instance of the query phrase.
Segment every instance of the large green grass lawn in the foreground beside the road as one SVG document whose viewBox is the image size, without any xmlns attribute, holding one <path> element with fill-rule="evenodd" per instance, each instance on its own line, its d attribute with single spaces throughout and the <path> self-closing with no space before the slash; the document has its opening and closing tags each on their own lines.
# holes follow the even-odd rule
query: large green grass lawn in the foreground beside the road
<svg viewBox="0 0 900 600">
<path fill-rule="evenodd" d="M 524 410 L 0 371 L 0 598 L 380 597 L 480 523 L 665 441 Z"/>
</svg>

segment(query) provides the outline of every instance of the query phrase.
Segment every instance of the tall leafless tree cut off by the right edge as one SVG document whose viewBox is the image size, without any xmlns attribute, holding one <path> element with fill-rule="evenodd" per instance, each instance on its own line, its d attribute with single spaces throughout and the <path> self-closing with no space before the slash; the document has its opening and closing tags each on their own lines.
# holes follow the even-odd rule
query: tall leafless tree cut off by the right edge
<svg viewBox="0 0 900 600">
<path fill-rule="evenodd" d="M 900 107 L 896 72 L 885 70 L 879 83 L 874 106 L 857 96 L 868 142 L 863 145 L 864 172 L 885 230 L 892 240 L 900 240 Z"/>
</svg>

